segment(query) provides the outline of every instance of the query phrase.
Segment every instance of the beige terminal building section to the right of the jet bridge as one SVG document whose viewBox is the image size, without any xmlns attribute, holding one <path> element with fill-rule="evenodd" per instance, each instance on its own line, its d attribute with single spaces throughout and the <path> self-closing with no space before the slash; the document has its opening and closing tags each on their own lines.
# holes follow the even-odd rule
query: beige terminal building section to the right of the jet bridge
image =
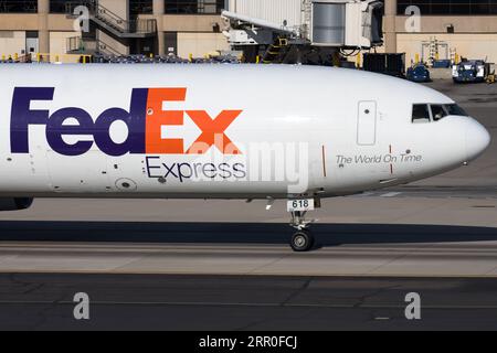
<svg viewBox="0 0 497 353">
<path fill-rule="evenodd" d="M 384 50 L 406 53 L 406 63 L 455 54 L 497 63 L 497 0 L 385 0 Z M 420 31 L 411 32 L 409 7 L 421 10 Z M 409 12 L 411 13 L 411 12 Z"/>
</svg>

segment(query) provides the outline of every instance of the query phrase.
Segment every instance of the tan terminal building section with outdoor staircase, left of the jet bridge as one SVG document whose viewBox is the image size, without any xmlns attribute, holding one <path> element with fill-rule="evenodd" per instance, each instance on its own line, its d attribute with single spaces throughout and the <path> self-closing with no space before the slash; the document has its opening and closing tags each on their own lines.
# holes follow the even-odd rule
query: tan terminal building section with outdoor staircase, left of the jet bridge
<svg viewBox="0 0 497 353">
<path fill-rule="evenodd" d="M 88 32 L 74 30 L 80 6 L 89 10 Z M 0 0 L 0 55 L 202 56 L 228 49 L 220 32 L 224 0 Z"/>
</svg>

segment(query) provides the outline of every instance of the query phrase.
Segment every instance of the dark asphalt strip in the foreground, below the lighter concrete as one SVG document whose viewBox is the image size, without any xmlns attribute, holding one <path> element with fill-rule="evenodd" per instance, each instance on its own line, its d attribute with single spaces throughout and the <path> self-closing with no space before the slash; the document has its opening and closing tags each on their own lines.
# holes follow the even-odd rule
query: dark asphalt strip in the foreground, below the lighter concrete
<svg viewBox="0 0 497 353">
<path fill-rule="evenodd" d="M 27 274 L 0 275 L 0 330 L 497 328 L 488 279 Z M 77 292 L 89 297 L 89 320 L 74 319 Z M 411 292 L 420 320 L 405 317 Z"/>
</svg>

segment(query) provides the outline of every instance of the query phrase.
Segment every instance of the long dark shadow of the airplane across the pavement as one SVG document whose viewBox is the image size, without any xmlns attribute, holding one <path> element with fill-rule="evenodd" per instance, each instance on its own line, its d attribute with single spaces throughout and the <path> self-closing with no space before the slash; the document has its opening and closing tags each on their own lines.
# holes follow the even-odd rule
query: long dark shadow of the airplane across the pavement
<svg viewBox="0 0 497 353">
<path fill-rule="evenodd" d="M 315 224 L 320 246 L 497 240 L 497 228 L 451 225 Z M 0 221 L 0 240 L 287 244 L 282 223 L 127 223 Z"/>
</svg>

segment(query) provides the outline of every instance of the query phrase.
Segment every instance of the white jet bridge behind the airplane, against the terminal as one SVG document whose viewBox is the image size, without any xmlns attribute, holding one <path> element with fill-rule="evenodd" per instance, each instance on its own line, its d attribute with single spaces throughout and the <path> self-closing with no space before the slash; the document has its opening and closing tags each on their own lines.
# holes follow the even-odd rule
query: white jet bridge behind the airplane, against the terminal
<svg viewBox="0 0 497 353">
<path fill-rule="evenodd" d="M 248 62 L 307 62 L 383 44 L 378 0 L 230 0 L 223 34 Z"/>
</svg>

